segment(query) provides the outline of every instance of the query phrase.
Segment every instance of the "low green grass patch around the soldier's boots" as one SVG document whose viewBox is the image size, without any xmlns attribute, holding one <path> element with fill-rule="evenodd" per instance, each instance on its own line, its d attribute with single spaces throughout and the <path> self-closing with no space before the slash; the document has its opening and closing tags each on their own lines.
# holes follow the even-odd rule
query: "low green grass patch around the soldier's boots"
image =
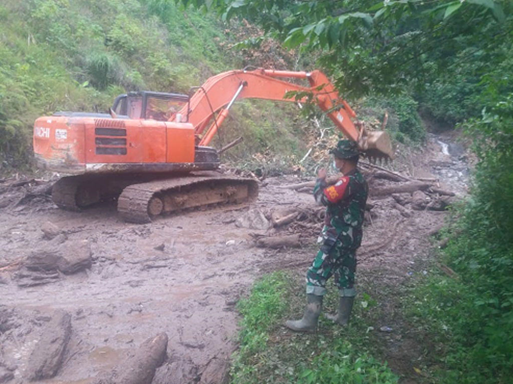
<svg viewBox="0 0 513 384">
<path fill-rule="evenodd" d="M 376 313 L 375 301 L 368 294 L 363 295 L 365 307 L 355 309 L 355 320 L 348 329 L 321 319 L 320 332 L 293 334 L 282 324 L 284 316 L 303 309 L 303 292 L 302 279 L 274 272 L 241 300 L 241 346 L 233 356 L 233 384 L 397 383 L 398 377 L 369 352 L 375 350 L 376 340 L 367 331 Z M 327 308 L 334 308 L 337 300 L 331 292 L 326 297 Z"/>
</svg>

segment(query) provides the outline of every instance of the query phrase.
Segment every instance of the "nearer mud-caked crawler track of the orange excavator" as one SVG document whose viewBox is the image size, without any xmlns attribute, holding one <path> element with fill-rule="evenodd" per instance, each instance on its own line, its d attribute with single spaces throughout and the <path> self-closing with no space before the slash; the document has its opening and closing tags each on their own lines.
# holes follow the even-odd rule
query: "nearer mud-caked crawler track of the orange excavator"
<svg viewBox="0 0 513 384">
<path fill-rule="evenodd" d="M 203 172 L 129 185 L 117 200 L 117 210 L 124 220 L 143 224 L 173 211 L 249 202 L 257 196 L 254 179 Z"/>
</svg>

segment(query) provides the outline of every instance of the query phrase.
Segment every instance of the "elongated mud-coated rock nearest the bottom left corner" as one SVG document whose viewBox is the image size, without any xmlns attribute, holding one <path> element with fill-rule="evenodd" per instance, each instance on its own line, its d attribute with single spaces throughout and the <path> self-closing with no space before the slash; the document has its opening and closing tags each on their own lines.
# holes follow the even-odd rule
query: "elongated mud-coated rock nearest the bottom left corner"
<svg viewBox="0 0 513 384">
<path fill-rule="evenodd" d="M 65 311 L 55 311 L 30 355 L 26 371 L 29 380 L 43 380 L 57 374 L 70 335 L 71 316 Z"/>
</svg>

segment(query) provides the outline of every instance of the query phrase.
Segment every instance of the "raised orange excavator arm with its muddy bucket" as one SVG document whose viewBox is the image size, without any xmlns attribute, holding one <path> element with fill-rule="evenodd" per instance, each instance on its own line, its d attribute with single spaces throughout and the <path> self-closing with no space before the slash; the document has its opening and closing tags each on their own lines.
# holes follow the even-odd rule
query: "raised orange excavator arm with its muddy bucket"
<svg viewBox="0 0 513 384">
<path fill-rule="evenodd" d="M 304 87 L 282 79 L 306 79 L 309 87 Z M 200 145 L 208 145 L 228 115 L 235 99 L 259 98 L 277 101 L 306 101 L 285 98 L 287 92 L 313 95 L 319 108 L 350 140 L 357 141 L 362 151 L 371 157 L 392 158 L 390 140 L 385 132 L 366 133 L 357 128 L 351 120 L 356 114 L 348 103 L 340 97 L 333 84 L 320 71 L 293 72 L 257 69 L 253 71 L 235 70 L 210 77 L 191 96 L 189 105 L 179 112 L 188 115 L 195 134 L 201 137 Z M 341 105 L 340 108 L 337 108 Z M 216 112 L 219 113 L 215 115 Z M 209 125 L 210 121 L 213 122 Z"/>
</svg>

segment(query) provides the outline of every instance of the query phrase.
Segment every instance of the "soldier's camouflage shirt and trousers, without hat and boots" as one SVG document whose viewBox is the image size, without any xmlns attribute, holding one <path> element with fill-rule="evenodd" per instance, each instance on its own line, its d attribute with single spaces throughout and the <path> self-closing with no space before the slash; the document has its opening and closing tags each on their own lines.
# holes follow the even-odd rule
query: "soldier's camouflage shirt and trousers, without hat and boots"
<svg viewBox="0 0 513 384">
<path fill-rule="evenodd" d="M 317 180 L 313 196 L 326 206 L 326 218 L 318 240 L 321 248 L 306 273 L 307 294 L 324 295 L 326 281 L 334 274 L 340 296 L 356 295 L 356 249 L 362 242 L 367 194 L 367 182 L 358 168 L 329 187 L 324 179 Z"/>
</svg>

